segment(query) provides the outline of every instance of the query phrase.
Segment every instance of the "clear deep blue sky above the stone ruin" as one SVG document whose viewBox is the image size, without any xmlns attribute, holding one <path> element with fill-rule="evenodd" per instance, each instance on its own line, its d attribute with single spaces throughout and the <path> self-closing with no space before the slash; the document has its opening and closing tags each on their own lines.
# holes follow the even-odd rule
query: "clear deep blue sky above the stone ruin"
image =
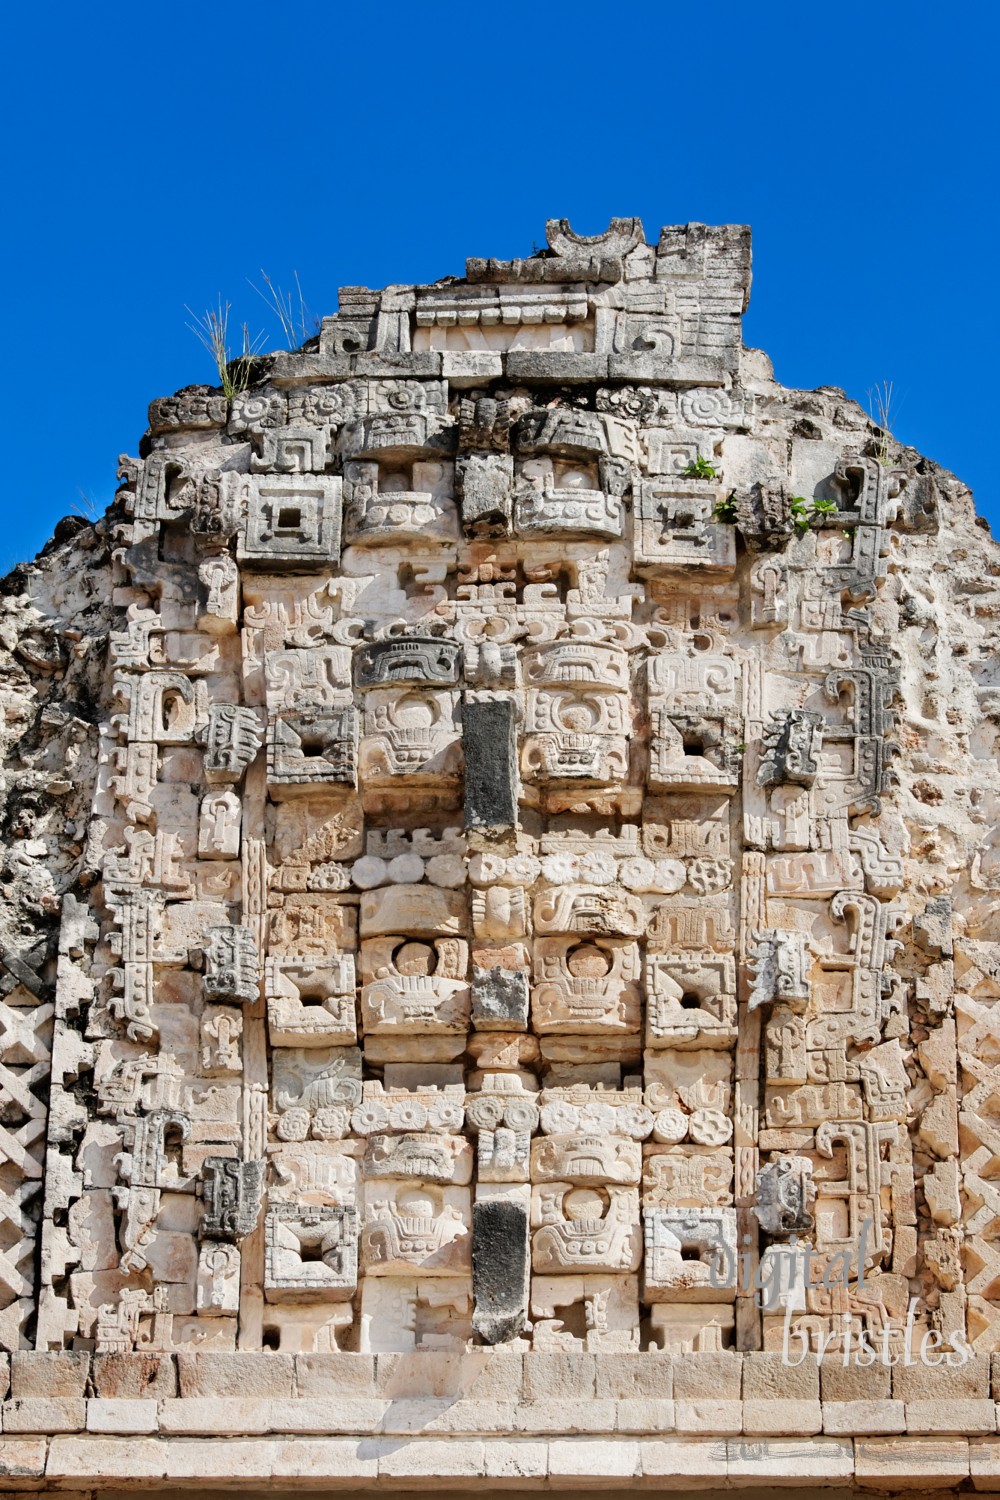
<svg viewBox="0 0 1000 1500">
<path fill-rule="evenodd" d="M 261 267 L 333 312 L 562 216 L 753 225 L 747 342 L 789 386 L 892 381 L 897 435 L 996 525 L 999 32 L 961 0 L 16 6 L 0 572 L 211 380 L 184 304 L 277 346 Z"/>
</svg>

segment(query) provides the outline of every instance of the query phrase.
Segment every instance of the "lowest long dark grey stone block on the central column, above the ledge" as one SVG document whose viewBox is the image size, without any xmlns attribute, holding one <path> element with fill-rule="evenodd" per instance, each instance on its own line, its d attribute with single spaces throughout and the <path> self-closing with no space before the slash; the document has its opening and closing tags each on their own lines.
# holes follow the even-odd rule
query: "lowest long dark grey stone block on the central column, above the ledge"
<svg viewBox="0 0 1000 1500">
<path fill-rule="evenodd" d="M 487 1344 L 517 1338 L 528 1316 L 528 1209 L 511 1198 L 472 1204 L 472 1328 Z"/>
</svg>

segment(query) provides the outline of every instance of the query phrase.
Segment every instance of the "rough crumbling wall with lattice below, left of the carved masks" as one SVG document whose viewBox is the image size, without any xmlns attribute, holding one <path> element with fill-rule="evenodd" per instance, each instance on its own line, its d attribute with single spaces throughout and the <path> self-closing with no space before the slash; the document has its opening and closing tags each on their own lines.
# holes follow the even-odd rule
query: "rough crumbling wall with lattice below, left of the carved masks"
<svg viewBox="0 0 1000 1500">
<path fill-rule="evenodd" d="M 0 580 L 3 1348 L 34 1342 L 60 914 L 97 873 L 87 837 L 112 620 L 105 524 L 60 522 L 34 562 Z"/>
</svg>

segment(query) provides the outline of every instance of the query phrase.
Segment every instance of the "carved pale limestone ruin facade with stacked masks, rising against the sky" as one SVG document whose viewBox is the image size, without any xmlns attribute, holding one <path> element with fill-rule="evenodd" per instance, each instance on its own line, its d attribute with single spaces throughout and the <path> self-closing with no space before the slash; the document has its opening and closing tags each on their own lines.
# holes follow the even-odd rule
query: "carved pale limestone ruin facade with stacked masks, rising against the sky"
<svg viewBox="0 0 1000 1500">
<path fill-rule="evenodd" d="M 4 1473 L 400 1394 L 442 1482 L 1000 1473 L 1000 554 L 745 228 L 547 246 L 154 400 L 1 585 Z"/>
</svg>

